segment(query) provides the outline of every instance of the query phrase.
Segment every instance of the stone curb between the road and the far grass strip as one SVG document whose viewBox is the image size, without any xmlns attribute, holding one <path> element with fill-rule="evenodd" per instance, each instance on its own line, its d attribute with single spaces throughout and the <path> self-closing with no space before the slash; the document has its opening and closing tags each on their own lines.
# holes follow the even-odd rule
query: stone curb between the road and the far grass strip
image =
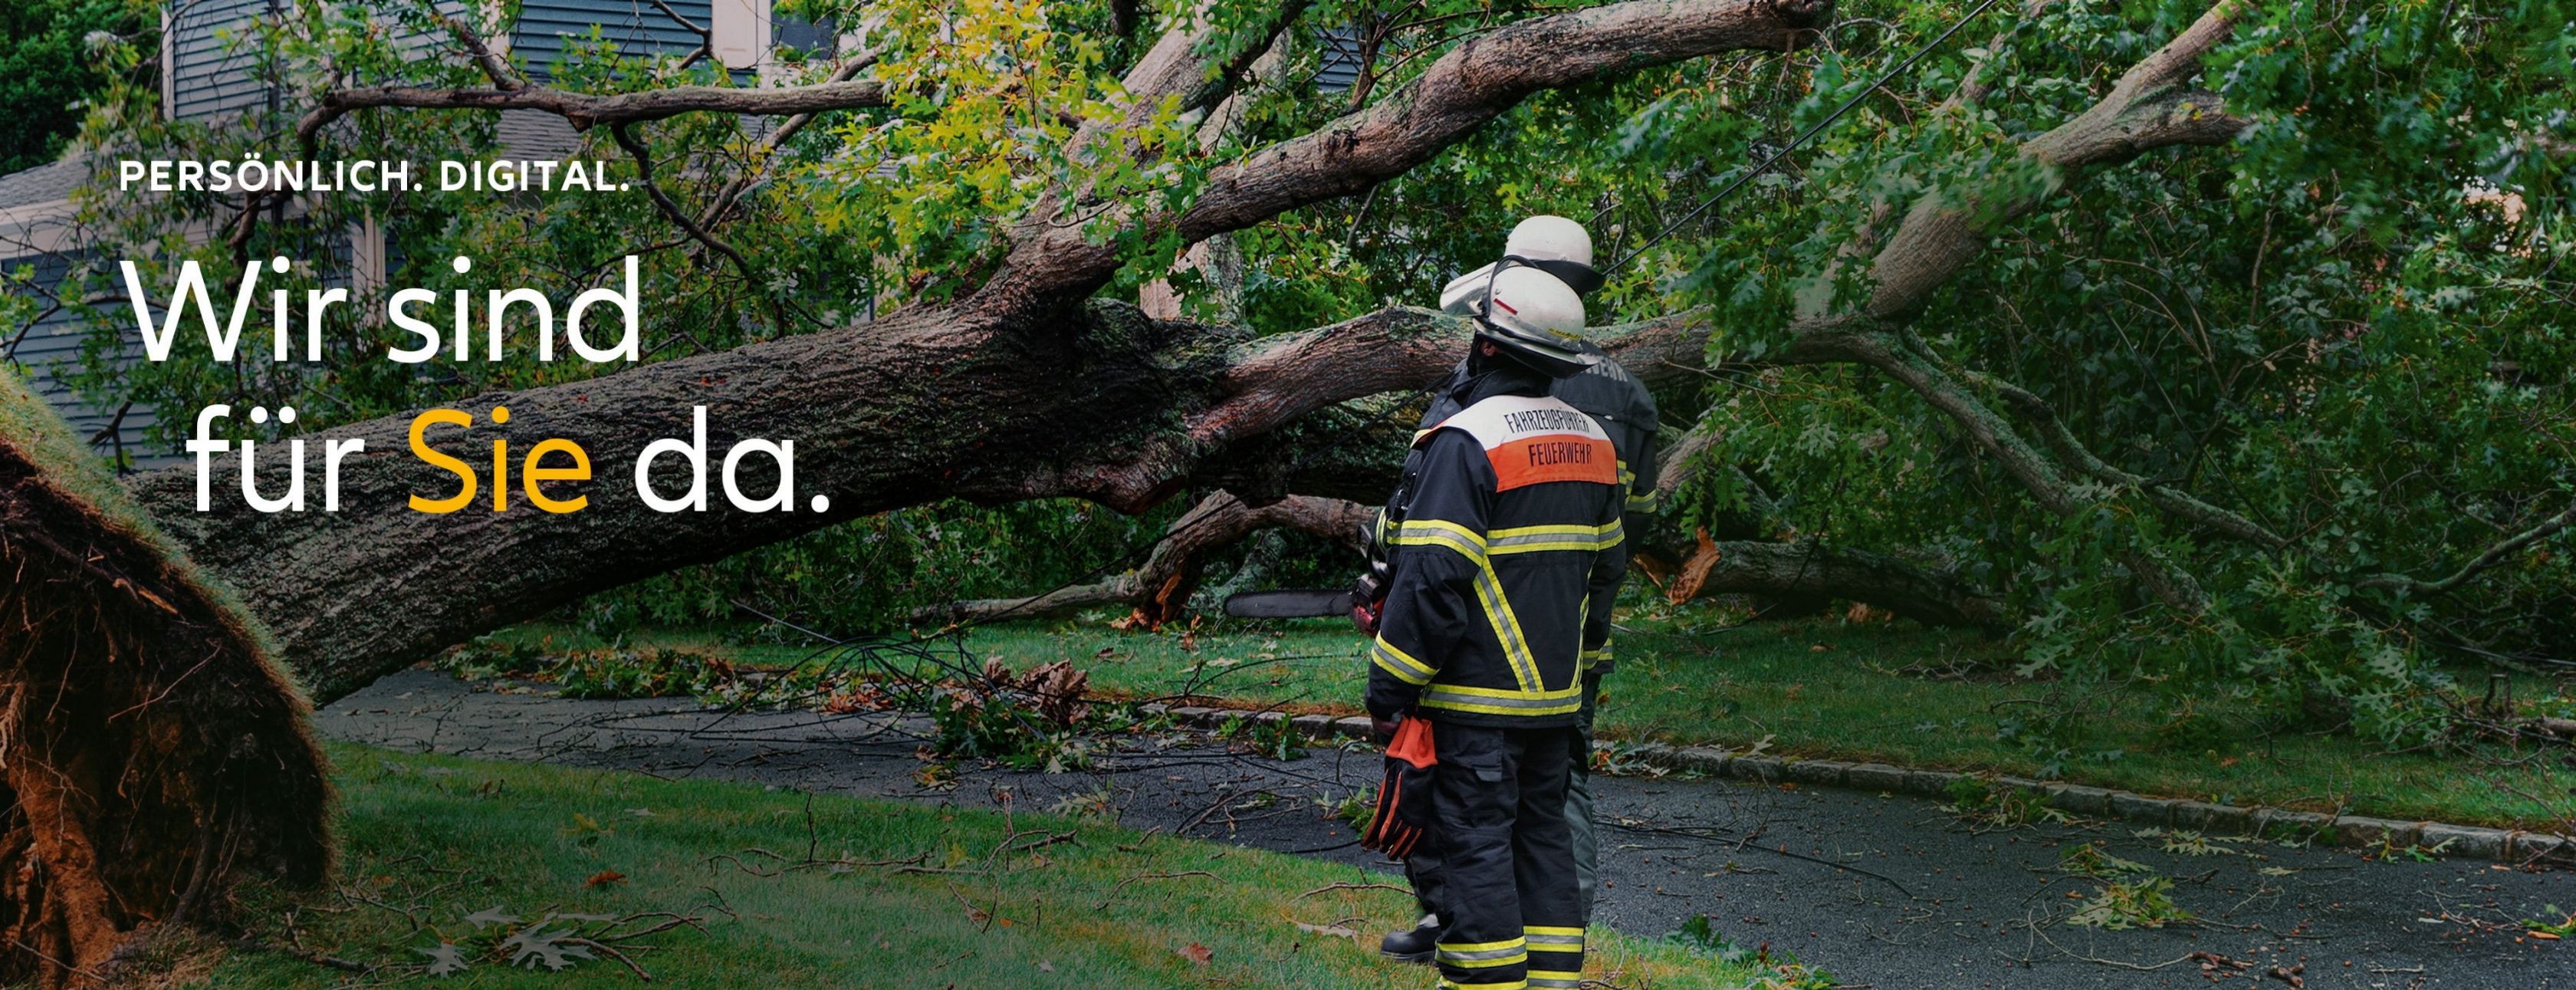
<svg viewBox="0 0 2576 990">
<path fill-rule="evenodd" d="M 1337 719 L 1329 714 L 1206 709 L 1206 706 L 1172 706 L 1172 704 L 1144 704 L 1139 709 L 1149 714 L 1170 714 L 1182 724 L 1203 730 L 1213 730 L 1231 719 L 1249 719 L 1257 724 L 1275 724 L 1280 719 L 1288 719 L 1288 724 L 1293 724 L 1311 742 L 1334 742 L 1345 737 L 1365 740 L 1370 735 L 1368 719 L 1355 714 Z M 2372 848 L 2385 843 L 2385 846 L 2416 846 L 2424 848 L 2427 853 L 2439 853 L 2447 859 L 2488 859 L 2501 864 L 2553 864 L 2553 866 L 2576 864 L 2576 838 L 2550 835 L 2550 833 L 2524 833 L 2524 830 L 2481 828 L 2481 825 L 2445 825 L 2445 822 L 2398 822 L 2385 817 L 2290 812 L 2277 807 L 2233 807 L 2233 804 L 2210 804 L 2210 802 L 2192 802 L 2174 797 L 2146 797 L 2133 791 L 2112 791 L 2102 786 L 2081 786 L 2063 781 L 2032 781 L 2022 776 L 1914 771 L 1886 763 L 1801 761 L 1780 755 L 1736 755 L 1731 750 L 1710 745 L 1643 742 L 1625 748 L 1623 755 L 1667 771 L 1698 771 L 1736 781 L 1842 786 L 1857 791 L 1914 794 L 1914 797 L 1950 797 L 1950 784 L 1955 784 L 1963 776 L 1973 776 L 1986 781 L 1986 786 L 1991 789 L 2022 791 L 2069 815 L 2112 817 L 2125 822 L 2164 825 L 2177 830 L 2221 833 L 2221 835 L 2275 835 L 2275 833 L 2306 830 L 2311 835 L 2321 833 L 2324 843 L 2344 848 Z"/>
</svg>

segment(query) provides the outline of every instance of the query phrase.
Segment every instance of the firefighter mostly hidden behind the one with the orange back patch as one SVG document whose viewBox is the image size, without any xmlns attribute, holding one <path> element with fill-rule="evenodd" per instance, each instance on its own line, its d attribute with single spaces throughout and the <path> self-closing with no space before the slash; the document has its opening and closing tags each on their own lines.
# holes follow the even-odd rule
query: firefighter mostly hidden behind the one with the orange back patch
<svg viewBox="0 0 2576 990">
<path fill-rule="evenodd" d="M 1553 273 L 1577 294 L 1589 294 L 1600 286 L 1600 276 L 1592 271 L 1592 235 L 1582 224 L 1564 217 L 1530 217 L 1512 227 L 1504 240 L 1504 255 L 1530 263 Z M 1486 278 L 1494 266 L 1476 268 L 1466 276 L 1453 278 L 1440 291 L 1440 304 L 1453 315 L 1476 315 L 1484 304 Z M 1656 410 L 1654 394 L 1646 384 L 1628 374 L 1625 366 L 1613 361 L 1589 340 L 1579 348 L 1597 361 L 1582 374 L 1556 379 L 1548 389 L 1553 397 L 1566 400 L 1566 405 L 1582 410 L 1602 431 L 1610 433 L 1610 443 L 1618 449 L 1620 482 L 1628 487 L 1623 531 L 1638 534 L 1656 510 Z M 1440 420 L 1458 412 L 1453 392 L 1458 382 L 1466 382 L 1468 366 L 1461 361 L 1450 369 L 1450 376 L 1432 387 L 1430 410 L 1425 410 L 1417 431 L 1430 431 Z M 1419 451 L 1409 454 L 1406 461 L 1419 461 Z M 1381 510 L 1381 526 L 1394 518 Z M 1623 570 L 1625 570 L 1625 541 L 1620 544 Z M 1383 549 L 1381 539 L 1370 541 L 1370 549 Z M 1373 596 L 1376 585 L 1383 583 L 1383 559 L 1373 559 L 1373 578 L 1363 578 L 1363 596 Z M 1373 629 L 1370 629 L 1373 632 Z M 1577 719 L 1571 776 L 1566 781 L 1566 822 L 1574 830 L 1574 869 L 1577 869 L 1577 900 L 1584 908 L 1584 923 L 1592 923 L 1592 900 L 1600 889 L 1600 843 L 1592 830 L 1592 717 L 1595 701 L 1600 699 L 1600 681 L 1613 668 L 1613 645 L 1602 645 L 1597 655 L 1587 657 L 1584 665 L 1584 706 Z M 1422 920 L 1412 931 L 1388 933 L 1378 951 L 1399 962 L 1430 962 L 1435 944 L 1440 938 L 1440 861 L 1432 851 L 1419 851 L 1404 864 L 1406 877 L 1414 884 L 1414 897 L 1422 902 Z"/>
</svg>

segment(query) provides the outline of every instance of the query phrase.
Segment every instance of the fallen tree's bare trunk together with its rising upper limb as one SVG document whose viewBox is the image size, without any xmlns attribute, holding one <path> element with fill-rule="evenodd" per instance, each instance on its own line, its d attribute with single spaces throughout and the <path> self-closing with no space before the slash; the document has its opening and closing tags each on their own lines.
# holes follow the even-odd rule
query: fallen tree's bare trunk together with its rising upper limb
<svg viewBox="0 0 2576 990">
<path fill-rule="evenodd" d="M 1832 3 L 1687 0 L 1517 21 L 1450 49 L 1332 126 L 1216 168 L 1180 209 L 1095 211 L 1206 240 L 1394 178 L 1530 93 L 1710 52 L 1793 49 L 1829 18 Z M 1128 72 L 1131 106 L 1216 103 L 1224 90 L 1208 80 L 1224 72 L 1211 75 L 1211 31 L 1182 23 L 1157 41 Z M 1108 124 L 1072 142 L 1118 139 L 1121 126 Z M 1079 201 L 1082 191 L 1061 196 Z M 1301 423 L 1316 410 L 1435 382 L 1466 340 L 1461 320 L 1381 309 L 1260 340 L 1236 327 L 1146 320 L 1133 304 L 1092 299 L 1118 273 L 1118 253 L 1084 240 L 1082 227 L 1056 224 L 1059 209 L 1048 201 L 1020 222 L 1002 266 L 953 304 L 453 402 L 477 410 L 469 446 L 510 438 L 528 449 L 562 436 L 613 459 L 652 438 L 688 436 L 690 407 L 703 405 L 716 449 L 747 436 L 796 441 L 796 487 L 827 492 L 824 513 L 711 510 L 680 523 L 623 485 L 592 485 L 590 508 L 562 516 L 412 513 L 410 495 L 443 492 L 453 477 L 407 454 L 407 415 L 312 436 L 366 441 L 343 464 L 337 513 L 268 516 L 237 500 L 198 513 L 188 467 L 142 474 L 131 487 L 193 559 L 242 590 L 319 701 L 618 583 L 938 498 L 1069 495 L 1133 513 L 1190 485 L 1229 487 L 1252 503 L 1285 495 L 1291 482 L 1306 495 L 1383 495 L 1386 464 L 1280 451 L 1334 433 L 1332 423 Z M 1705 325 L 1690 315 L 1607 335 L 1641 374 L 1703 364 Z M 487 425 L 489 407 L 507 407 L 510 423 Z M 1275 474 L 1293 461 L 1303 464 L 1298 480 Z"/>
</svg>

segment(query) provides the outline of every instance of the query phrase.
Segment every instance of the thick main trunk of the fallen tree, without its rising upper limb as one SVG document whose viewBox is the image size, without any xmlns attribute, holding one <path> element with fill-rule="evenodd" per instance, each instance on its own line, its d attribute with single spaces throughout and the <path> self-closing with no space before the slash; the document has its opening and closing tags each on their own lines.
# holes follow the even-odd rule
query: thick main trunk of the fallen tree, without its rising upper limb
<svg viewBox="0 0 2576 990">
<path fill-rule="evenodd" d="M 1641 374 L 1669 376 L 1680 374 L 1674 361 L 1698 364 L 1687 340 L 1703 333 L 1685 315 L 1620 327 L 1615 343 Z M 312 498 L 319 477 L 307 477 L 307 510 L 252 510 L 232 495 L 237 451 L 211 459 L 209 485 L 222 492 L 211 510 L 196 510 L 193 464 L 139 474 L 131 490 L 198 565 L 242 593 L 276 632 L 281 657 L 327 704 L 582 596 L 940 498 L 1072 495 L 1133 513 L 1190 485 L 1221 485 L 1267 503 L 1291 490 L 1285 469 L 1296 467 L 1298 492 L 1376 500 L 1394 482 L 1394 459 L 1368 436 L 1394 438 L 1412 420 L 1394 423 L 1401 410 L 1296 420 L 1355 397 L 1422 389 L 1463 343 L 1461 320 L 1425 309 L 1255 343 L 1239 330 L 1144 320 L 1115 302 L 1020 325 L 925 307 L 853 330 L 456 402 L 477 425 L 440 425 L 430 443 L 474 464 L 479 487 L 471 505 L 446 516 L 407 505 L 412 495 L 459 492 L 456 474 L 410 454 L 410 415 L 304 438 L 314 451 L 327 438 L 366 441 L 340 464 L 337 510 Z M 719 477 L 706 480 L 703 513 L 641 503 L 636 454 L 654 438 L 690 438 L 690 407 L 701 405 L 708 474 L 721 474 L 734 441 L 796 443 L 788 510 L 737 510 Z M 510 423 L 495 425 L 492 407 L 507 407 Z M 587 508 L 533 508 L 513 464 L 507 510 L 492 510 L 492 441 L 507 441 L 518 459 L 554 436 L 587 451 L 592 480 L 549 482 L 544 492 L 587 498 Z M 260 446 L 263 492 L 289 485 L 281 454 Z M 770 459 L 742 464 L 747 495 L 775 487 Z M 654 487 L 680 495 L 685 464 L 662 456 Z M 811 510 L 814 495 L 827 495 L 829 510 Z"/>
</svg>

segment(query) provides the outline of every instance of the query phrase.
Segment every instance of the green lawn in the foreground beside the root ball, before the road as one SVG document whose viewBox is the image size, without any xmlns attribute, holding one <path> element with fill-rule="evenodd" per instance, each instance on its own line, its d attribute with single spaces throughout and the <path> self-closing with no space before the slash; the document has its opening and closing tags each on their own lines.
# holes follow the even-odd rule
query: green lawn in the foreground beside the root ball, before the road
<svg viewBox="0 0 2576 990">
<path fill-rule="evenodd" d="M 804 794 L 747 784 L 361 745 L 330 753 L 345 843 L 332 889 L 250 887 L 242 920 L 273 949 L 165 951 L 178 959 L 173 985 L 417 977 L 428 962 L 420 949 L 440 941 L 471 962 L 443 985 L 641 985 L 600 951 L 564 972 L 513 969 L 497 944 L 544 915 L 598 918 L 541 926 L 585 933 L 698 918 L 626 941 L 654 985 L 675 987 L 1430 985 L 1427 969 L 1376 956 L 1376 936 L 1412 920 L 1409 897 L 1309 895 L 1383 879 L 1352 866 L 1154 838 L 1087 817 L 1005 820 L 850 797 L 809 804 Z M 809 848 L 814 866 L 781 869 L 809 861 Z M 466 920 L 492 908 L 518 923 Z M 1739 987 L 1759 975 L 1677 944 L 1615 933 L 1595 941 L 1595 977 L 1623 987 Z M 358 977 L 283 946 L 386 969 Z M 1206 951 L 1203 962 L 1193 946 Z"/>
</svg>

